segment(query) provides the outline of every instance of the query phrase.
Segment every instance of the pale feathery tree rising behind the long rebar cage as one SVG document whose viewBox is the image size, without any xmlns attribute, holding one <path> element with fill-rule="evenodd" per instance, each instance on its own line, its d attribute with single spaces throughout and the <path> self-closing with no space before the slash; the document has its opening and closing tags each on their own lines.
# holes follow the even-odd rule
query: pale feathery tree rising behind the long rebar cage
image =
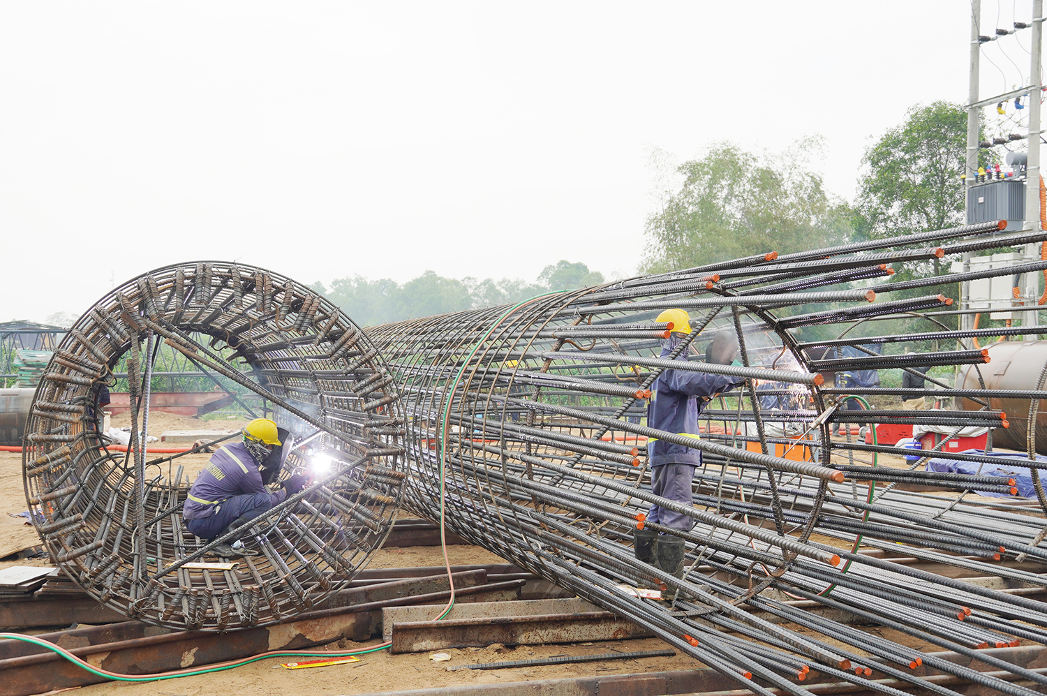
<svg viewBox="0 0 1047 696">
<path fill-rule="evenodd" d="M 808 138 L 781 156 L 760 156 L 718 142 L 684 162 L 678 189 L 647 219 L 641 267 L 664 272 L 847 241 L 850 208 L 825 193 L 807 164 L 820 148 L 821 140 Z"/>
</svg>

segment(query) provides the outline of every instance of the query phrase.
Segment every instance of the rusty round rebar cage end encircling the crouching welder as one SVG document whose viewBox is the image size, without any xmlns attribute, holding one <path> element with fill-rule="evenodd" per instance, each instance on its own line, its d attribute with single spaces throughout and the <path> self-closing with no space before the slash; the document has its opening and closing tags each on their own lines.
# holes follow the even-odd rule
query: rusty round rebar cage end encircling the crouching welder
<svg viewBox="0 0 1047 696">
<path fill-rule="evenodd" d="M 142 442 L 161 347 L 232 392 L 262 396 L 290 435 L 273 477 L 309 467 L 307 452 L 325 468 L 248 525 L 210 542 L 193 536 L 180 514 L 191 477 Z M 126 453 L 98 432 L 94 402 L 121 358 Z M 168 266 L 103 297 L 54 352 L 26 428 L 26 497 L 52 560 L 109 607 L 181 629 L 262 626 L 346 586 L 384 541 L 405 475 L 402 424 L 377 350 L 327 299 L 262 268 Z M 194 567 L 229 560 L 213 549 L 233 535 L 257 555 L 230 569 Z"/>
</svg>

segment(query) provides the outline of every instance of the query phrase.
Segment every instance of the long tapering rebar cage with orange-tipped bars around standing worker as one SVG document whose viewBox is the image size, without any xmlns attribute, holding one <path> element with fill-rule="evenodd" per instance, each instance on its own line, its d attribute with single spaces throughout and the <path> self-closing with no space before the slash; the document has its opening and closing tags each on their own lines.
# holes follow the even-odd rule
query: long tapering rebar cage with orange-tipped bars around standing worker
<svg viewBox="0 0 1047 696">
<path fill-rule="evenodd" d="M 809 693 L 799 683 L 809 670 L 884 693 L 899 693 L 884 679 L 897 679 L 900 688 L 909 682 L 954 693 L 914 673 L 921 663 L 1001 693 L 1034 693 L 1011 680 L 1040 686 L 1047 677 L 979 649 L 1019 639 L 1047 643 L 1047 604 L 879 555 L 903 553 L 958 565 L 961 575 L 1043 586 L 1037 575 L 1047 561 L 1047 548 L 1039 546 L 1043 515 L 1030 515 L 1038 511 L 1028 508 L 1016 514 L 967 504 L 968 491 L 1009 496 L 1015 481 L 923 471 L 920 465 L 938 451 L 926 452 L 909 468 L 877 467 L 871 458 L 877 453 L 910 450 L 830 435 L 838 424 L 849 432 L 853 422 L 915 419 L 954 428 L 940 450 L 963 427 L 1006 427 L 1005 414 L 984 406 L 987 399 L 979 399 L 977 389 L 953 389 L 932 378 L 928 389 L 910 391 L 943 399 L 955 391 L 983 408 L 870 410 L 865 398 L 891 390 L 833 387 L 812 369 L 912 369 L 931 362 L 977 371 L 986 362 L 982 351 L 962 344 L 948 350 L 951 339 L 971 332 L 938 331 L 935 313 L 952 313 L 951 298 L 919 293 L 890 298 L 896 290 L 948 287 L 971 274 L 893 285 L 873 285 L 869 278 L 890 275 L 886 261 L 940 257 L 941 248 L 919 248 L 929 241 L 962 240 L 951 247 L 961 250 L 964 245 L 1008 246 L 1013 235 L 999 235 L 998 229 L 988 223 L 786 257 L 756 254 L 511 307 L 369 329 L 404 395 L 410 468 L 404 504 L 647 627 L 756 693 L 771 693 L 767 687 Z M 1022 235 L 1025 241 L 1045 238 Z M 877 250 L 885 251 L 871 253 Z M 811 291 L 857 280 L 855 289 Z M 877 299 L 877 294 L 888 298 Z M 806 306 L 804 313 L 797 313 L 800 305 Z M 670 359 L 662 359 L 655 356 L 669 327 L 654 322 L 669 308 L 688 310 L 693 332 Z M 926 318 L 946 349 L 923 360 L 881 357 L 865 346 L 870 339 L 845 337 L 855 323 L 885 316 Z M 811 334 L 806 343 L 799 342 L 801 328 L 831 324 L 837 325 L 832 338 L 820 342 Z M 917 339 L 918 334 L 909 337 Z M 736 364 L 716 360 L 717 351 L 733 343 Z M 854 346 L 856 357 L 843 345 Z M 710 361 L 703 360 L 707 346 Z M 677 356 L 687 361 L 671 359 Z M 649 389 L 666 368 L 747 381 L 708 404 L 699 432 L 666 432 L 643 423 Z M 1047 398 L 1043 391 L 1022 394 Z M 646 448 L 653 439 L 701 451 L 690 504 L 652 494 Z M 1020 455 L 949 456 L 1043 466 Z M 887 486 L 877 490 L 874 481 Z M 943 498 L 903 491 L 898 484 L 957 494 Z M 651 504 L 694 521 L 688 532 L 652 525 L 660 539 L 684 540 L 689 567 L 683 579 L 634 557 L 633 533 L 645 526 Z M 1001 557 L 1028 559 L 1032 565 L 1022 570 L 994 564 Z M 636 588 L 642 586 L 662 586 L 663 598 L 675 601 L 638 597 Z M 925 659 L 877 633 L 798 606 L 799 600 L 983 659 L 1009 674 L 976 675 L 943 659 Z"/>
</svg>

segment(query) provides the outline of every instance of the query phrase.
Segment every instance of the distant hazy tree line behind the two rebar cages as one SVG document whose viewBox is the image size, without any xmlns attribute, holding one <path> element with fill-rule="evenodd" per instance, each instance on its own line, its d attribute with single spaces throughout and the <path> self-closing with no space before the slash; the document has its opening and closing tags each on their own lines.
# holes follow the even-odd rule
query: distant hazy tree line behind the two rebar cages
<svg viewBox="0 0 1047 696">
<path fill-rule="evenodd" d="M 585 264 L 560 261 L 547 266 L 536 283 L 518 278 L 454 279 L 425 271 L 403 285 L 389 278 L 369 280 L 356 275 L 333 280 L 330 290 L 321 283 L 314 283 L 312 289 L 326 295 L 354 321 L 366 327 L 410 317 L 510 305 L 547 292 L 601 283 L 603 275 L 589 271 Z"/>
</svg>

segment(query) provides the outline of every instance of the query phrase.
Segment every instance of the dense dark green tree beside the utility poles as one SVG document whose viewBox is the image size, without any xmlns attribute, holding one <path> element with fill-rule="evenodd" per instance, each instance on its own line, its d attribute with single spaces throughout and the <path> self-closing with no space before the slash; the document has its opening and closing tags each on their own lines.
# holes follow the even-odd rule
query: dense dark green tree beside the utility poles
<svg viewBox="0 0 1047 696">
<path fill-rule="evenodd" d="M 866 151 L 855 207 L 870 237 L 963 224 L 966 138 L 966 111 L 934 102 L 909 109 L 900 126 Z"/>
</svg>

